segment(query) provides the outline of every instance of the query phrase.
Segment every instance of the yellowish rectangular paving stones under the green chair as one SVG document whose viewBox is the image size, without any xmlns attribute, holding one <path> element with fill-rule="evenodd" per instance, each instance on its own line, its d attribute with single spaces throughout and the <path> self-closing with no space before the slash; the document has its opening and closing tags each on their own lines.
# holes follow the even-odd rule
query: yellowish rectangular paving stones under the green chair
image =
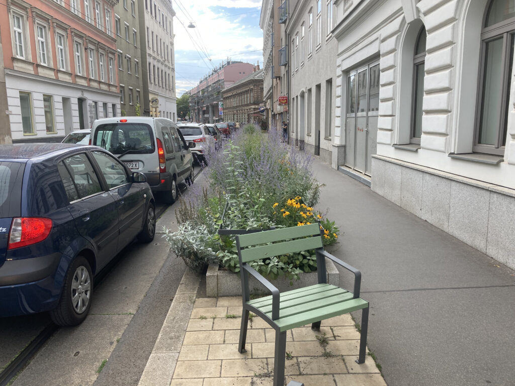
<svg viewBox="0 0 515 386">
<path fill-rule="evenodd" d="M 249 321 L 247 353 L 238 353 L 241 297 L 197 298 L 187 324 L 171 386 L 266 386 L 272 384 L 274 330 Z M 317 338 L 318 337 L 318 338 Z M 327 341 L 322 345 L 319 341 Z M 323 342 L 322 342 L 323 343 Z M 358 365 L 359 332 L 350 314 L 322 321 L 320 332 L 288 331 L 286 383 L 306 386 L 385 386 L 373 359 Z"/>
</svg>

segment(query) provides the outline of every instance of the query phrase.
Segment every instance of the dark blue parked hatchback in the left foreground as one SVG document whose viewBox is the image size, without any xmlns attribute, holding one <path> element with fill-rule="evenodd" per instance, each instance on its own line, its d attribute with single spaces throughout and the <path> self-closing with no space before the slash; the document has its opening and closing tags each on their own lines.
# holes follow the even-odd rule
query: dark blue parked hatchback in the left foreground
<svg viewBox="0 0 515 386">
<path fill-rule="evenodd" d="M 0 317 L 50 311 L 56 324 L 81 323 L 94 275 L 155 229 L 144 174 L 106 150 L 0 146 Z"/>
</svg>

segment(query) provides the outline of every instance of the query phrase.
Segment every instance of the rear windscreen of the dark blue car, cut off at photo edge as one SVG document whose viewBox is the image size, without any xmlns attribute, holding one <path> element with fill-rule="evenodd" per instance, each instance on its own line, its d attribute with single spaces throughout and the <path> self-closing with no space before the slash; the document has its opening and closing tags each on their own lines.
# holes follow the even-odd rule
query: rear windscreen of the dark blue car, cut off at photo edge
<svg viewBox="0 0 515 386">
<path fill-rule="evenodd" d="M 24 170 L 24 163 L 0 162 L 0 218 L 20 216 Z"/>
</svg>

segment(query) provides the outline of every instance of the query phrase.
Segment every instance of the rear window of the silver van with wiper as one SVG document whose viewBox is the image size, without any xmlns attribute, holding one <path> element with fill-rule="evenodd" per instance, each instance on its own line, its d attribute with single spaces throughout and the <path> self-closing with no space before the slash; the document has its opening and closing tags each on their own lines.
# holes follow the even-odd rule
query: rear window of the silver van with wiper
<svg viewBox="0 0 515 386">
<path fill-rule="evenodd" d="M 156 150 L 152 128 L 139 122 L 98 125 L 91 143 L 113 154 L 151 154 Z"/>
</svg>

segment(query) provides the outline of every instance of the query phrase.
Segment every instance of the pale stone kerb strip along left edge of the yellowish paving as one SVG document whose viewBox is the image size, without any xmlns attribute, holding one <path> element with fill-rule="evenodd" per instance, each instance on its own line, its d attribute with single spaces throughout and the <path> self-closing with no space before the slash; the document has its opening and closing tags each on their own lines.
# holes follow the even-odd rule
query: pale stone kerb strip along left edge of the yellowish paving
<svg viewBox="0 0 515 386">
<path fill-rule="evenodd" d="M 195 304 L 200 275 L 186 269 L 138 386 L 169 386 Z"/>
</svg>

